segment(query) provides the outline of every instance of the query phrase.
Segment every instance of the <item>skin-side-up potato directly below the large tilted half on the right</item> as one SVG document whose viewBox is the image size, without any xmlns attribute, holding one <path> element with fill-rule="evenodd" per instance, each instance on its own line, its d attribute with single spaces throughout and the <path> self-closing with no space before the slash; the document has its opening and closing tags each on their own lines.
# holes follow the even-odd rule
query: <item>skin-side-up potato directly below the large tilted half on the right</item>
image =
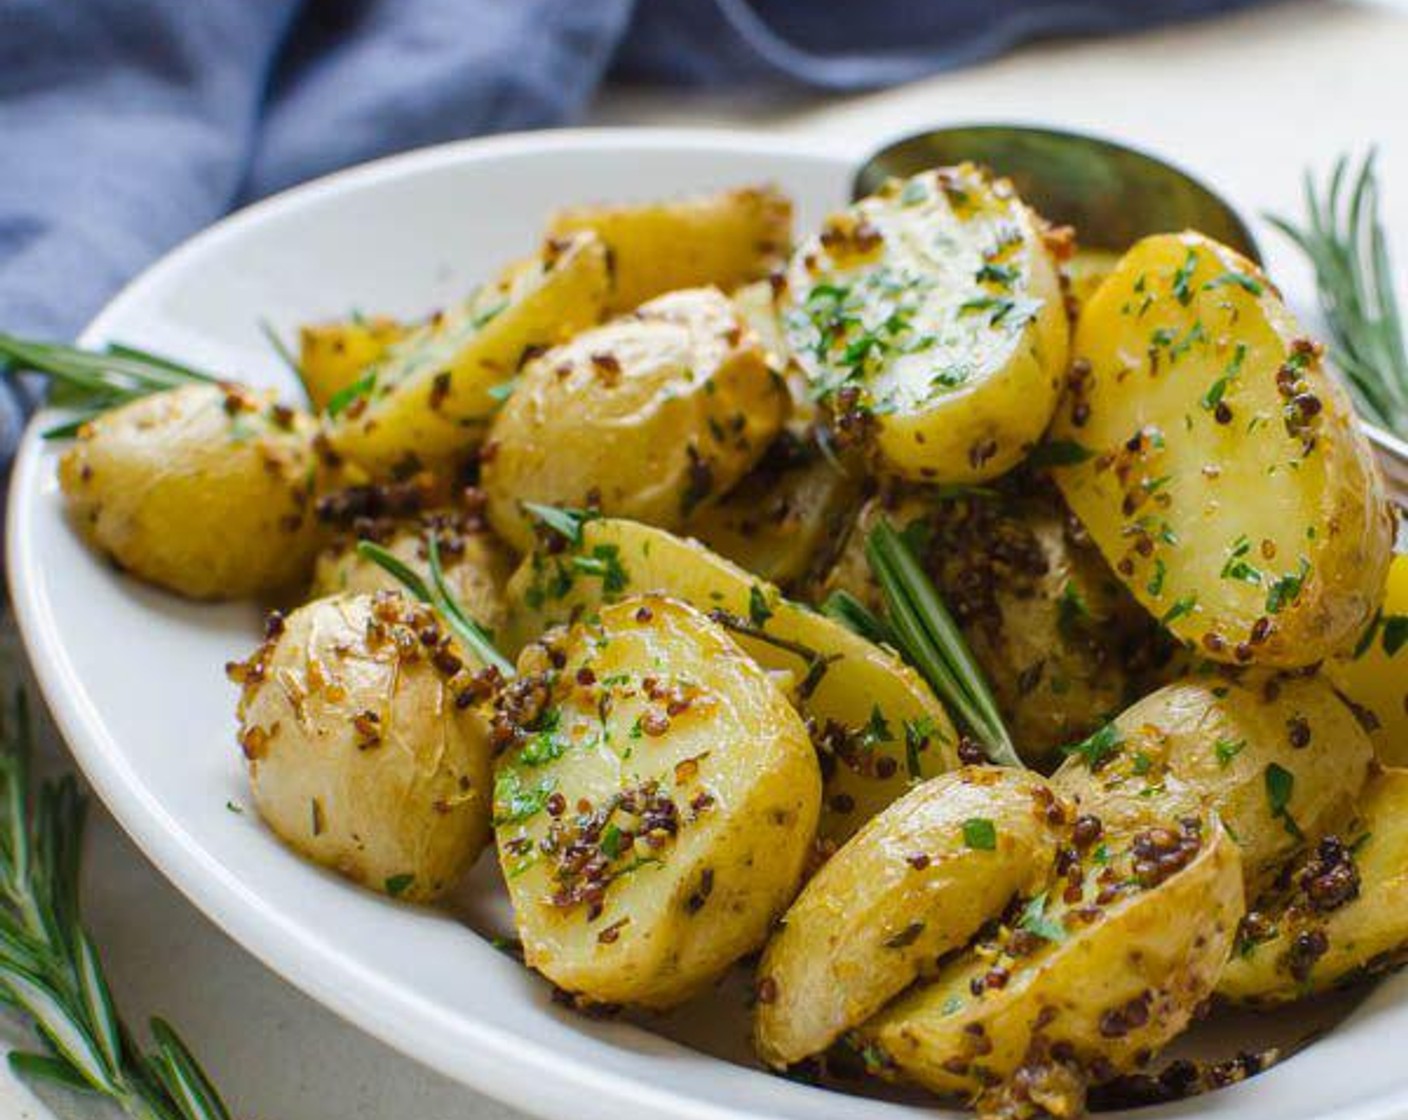
<svg viewBox="0 0 1408 1120">
<path fill-rule="evenodd" d="M 1052 783 L 1081 810 L 1118 821 L 1163 800 L 1167 780 L 1217 810 L 1257 895 L 1305 838 L 1354 814 L 1373 747 L 1319 676 L 1186 679 L 1097 731 Z"/>
</svg>

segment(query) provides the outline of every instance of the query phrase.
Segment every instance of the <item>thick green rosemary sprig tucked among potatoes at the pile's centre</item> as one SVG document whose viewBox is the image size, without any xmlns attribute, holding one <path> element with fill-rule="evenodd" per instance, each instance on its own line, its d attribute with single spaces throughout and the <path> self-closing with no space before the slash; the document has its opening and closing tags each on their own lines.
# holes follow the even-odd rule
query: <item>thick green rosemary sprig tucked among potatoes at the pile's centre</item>
<svg viewBox="0 0 1408 1120">
<path fill-rule="evenodd" d="M 957 713 L 993 762 L 1021 766 L 1022 759 L 963 634 L 914 551 L 884 518 L 866 537 L 866 559 L 884 593 L 884 626 L 894 635 L 895 648 Z M 841 610 L 852 609 L 843 604 Z"/>
</svg>

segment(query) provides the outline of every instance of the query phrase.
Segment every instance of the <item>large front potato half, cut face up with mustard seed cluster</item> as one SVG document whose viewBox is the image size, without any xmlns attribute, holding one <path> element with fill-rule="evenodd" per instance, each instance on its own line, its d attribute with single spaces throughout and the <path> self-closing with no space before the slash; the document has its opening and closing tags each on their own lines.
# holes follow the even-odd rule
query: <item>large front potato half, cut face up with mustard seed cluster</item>
<svg viewBox="0 0 1408 1120">
<path fill-rule="evenodd" d="M 667 1007 L 762 945 L 797 890 L 821 799 L 811 741 L 683 603 L 635 596 L 546 642 L 496 724 L 524 959 L 584 1002 Z"/>
</svg>

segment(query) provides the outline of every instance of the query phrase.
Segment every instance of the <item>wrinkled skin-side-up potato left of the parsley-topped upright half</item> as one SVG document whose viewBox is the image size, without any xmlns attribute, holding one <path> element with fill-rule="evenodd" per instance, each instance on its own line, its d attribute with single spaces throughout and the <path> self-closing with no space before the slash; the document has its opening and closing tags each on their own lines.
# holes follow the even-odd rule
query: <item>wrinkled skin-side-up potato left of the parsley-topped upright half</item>
<svg viewBox="0 0 1408 1120">
<path fill-rule="evenodd" d="M 524 503 L 679 527 L 767 449 L 787 392 L 715 289 L 673 292 L 532 361 L 494 418 L 489 518 L 532 547 Z"/>
</svg>

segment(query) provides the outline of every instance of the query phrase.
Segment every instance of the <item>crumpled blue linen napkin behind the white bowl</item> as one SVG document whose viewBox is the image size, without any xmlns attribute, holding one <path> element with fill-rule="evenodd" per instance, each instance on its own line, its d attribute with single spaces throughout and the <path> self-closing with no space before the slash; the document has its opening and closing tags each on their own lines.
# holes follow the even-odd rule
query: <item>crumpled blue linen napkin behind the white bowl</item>
<svg viewBox="0 0 1408 1120">
<path fill-rule="evenodd" d="M 1253 0 L 0 0 L 0 330 L 69 338 L 232 207 L 576 120 L 607 75 L 855 90 Z M 31 402 L 0 393 L 0 466 Z"/>
</svg>

